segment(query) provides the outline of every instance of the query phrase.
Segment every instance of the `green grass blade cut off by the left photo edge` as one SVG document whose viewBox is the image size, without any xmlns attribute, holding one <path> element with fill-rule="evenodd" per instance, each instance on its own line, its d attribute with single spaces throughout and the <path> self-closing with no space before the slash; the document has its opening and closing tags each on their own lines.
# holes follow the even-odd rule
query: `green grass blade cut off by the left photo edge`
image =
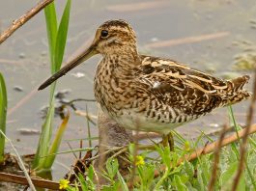
<svg viewBox="0 0 256 191">
<path fill-rule="evenodd" d="M 5 79 L 0 72 L 0 129 L 6 133 L 7 91 Z M 0 135 L 0 163 L 4 161 L 5 137 Z"/>
</svg>

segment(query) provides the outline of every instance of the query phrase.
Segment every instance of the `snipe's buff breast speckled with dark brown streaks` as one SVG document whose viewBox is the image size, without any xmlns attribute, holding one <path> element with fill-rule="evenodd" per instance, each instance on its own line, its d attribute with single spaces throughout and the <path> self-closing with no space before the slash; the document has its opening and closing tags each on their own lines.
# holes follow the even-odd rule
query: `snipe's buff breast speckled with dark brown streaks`
<svg viewBox="0 0 256 191">
<path fill-rule="evenodd" d="M 95 97 L 110 116 L 121 115 L 122 110 L 130 107 L 136 96 L 132 75 L 127 75 L 114 63 L 115 60 L 102 60 L 94 80 Z"/>
</svg>

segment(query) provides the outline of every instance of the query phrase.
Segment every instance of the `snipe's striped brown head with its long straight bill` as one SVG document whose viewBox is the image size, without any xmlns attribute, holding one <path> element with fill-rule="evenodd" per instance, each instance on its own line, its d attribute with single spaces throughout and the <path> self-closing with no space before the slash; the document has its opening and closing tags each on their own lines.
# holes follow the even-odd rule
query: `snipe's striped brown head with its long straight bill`
<svg viewBox="0 0 256 191">
<path fill-rule="evenodd" d="M 48 78 L 40 86 L 39 90 L 43 90 L 72 68 L 75 68 L 96 54 L 100 53 L 103 56 L 107 56 L 111 54 L 134 54 L 136 52 L 136 36 L 129 24 L 124 20 L 106 21 L 98 28 L 91 45 L 65 67 Z"/>
</svg>

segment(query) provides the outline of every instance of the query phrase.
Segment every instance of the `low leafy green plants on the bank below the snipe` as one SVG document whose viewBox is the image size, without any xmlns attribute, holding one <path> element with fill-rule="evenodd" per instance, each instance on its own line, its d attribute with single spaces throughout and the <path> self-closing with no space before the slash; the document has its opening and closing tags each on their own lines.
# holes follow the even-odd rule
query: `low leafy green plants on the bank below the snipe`
<svg viewBox="0 0 256 191">
<path fill-rule="evenodd" d="M 233 124 L 238 125 L 235 122 L 235 116 L 230 108 L 229 111 L 231 121 Z M 236 129 L 239 129 L 238 125 Z M 139 153 L 143 156 L 145 163 L 136 167 L 136 176 L 139 178 L 137 183 L 134 183 L 133 190 L 182 190 L 182 191 L 205 191 L 208 190 L 208 184 L 212 177 L 213 166 L 213 153 L 202 155 L 194 161 L 184 161 L 178 165 L 179 158 L 185 154 L 189 154 L 191 146 L 199 147 L 204 146 L 206 143 L 206 136 L 204 133 L 198 137 L 197 140 L 188 141 L 185 140 L 179 133 L 174 132 L 175 137 L 178 139 L 174 151 L 170 151 L 169 148 L 163 148 L 162 146 L 155 146 L 154 150 L 155 159 L 151 159 L 149 154 L 152 151 L 145 150 Z M 205 138 L 205 139 L 203 139 Z M 246 168 L 242 173 L 242 177 L 239 183 L 238 190 L 256 190 L 256 148 L 255 148 L 255 135 L 251 136 L 248 142 L 248 151 L 246 155 Z M 220 152 L 218 173 L 216 175 L 216 181 L 214 184 L 214 190 L 230 190 L 234 176 L 238 171 L 239 164 L 239 144 L 231 144 L 225 148 L 222 148 Z M 187 150 L 186 150 L 187 149 Z M 128 146 L 130 153 L 130 161 L 133 161 L 134 144 Z M 157 154 L 156 154 L 157 153 Z M 147 160 L 148 159 L 148 160 Z M 160 160 L 158 160 L 160 159 Z M 159 167 L 164 166 L 162 170 Z M 122 177 L 118 171 L 119 164 L 117 160 L 108 160 L 106 162 L 106 172 L 103 177 L 109 180 L 109 184 L 103 185 L 102 190 L 128 190 L 128 179 Z M 155 171 L 160 171 L 160 175 L 155 177 Z M 88 173 L 89 174 L 89 173 Z M 94 175 L 94 173 L 90 173 Z M 88 176 L 89 177 L 89 176 Z M 88 184 L 86 178 L 84 184 Z M 90 181 L 92 183 L 92 181 Z"/>
</svg>

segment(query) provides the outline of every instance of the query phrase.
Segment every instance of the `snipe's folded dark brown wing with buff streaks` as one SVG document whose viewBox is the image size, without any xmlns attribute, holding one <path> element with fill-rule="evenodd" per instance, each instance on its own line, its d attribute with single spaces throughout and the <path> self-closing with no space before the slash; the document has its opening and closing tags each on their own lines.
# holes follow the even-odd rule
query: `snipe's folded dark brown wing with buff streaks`
<svg viewBox="0 0 256 191">
<path fill-rule="evenodd" d="M 146 60 L 146 62 L 144 62 Z M 183 110 L 186 115 L 204 115 L 218 107 L 227 82 L 172 60 L 144 57 L 137 80 L 159 102 Z"/>
</svg>

